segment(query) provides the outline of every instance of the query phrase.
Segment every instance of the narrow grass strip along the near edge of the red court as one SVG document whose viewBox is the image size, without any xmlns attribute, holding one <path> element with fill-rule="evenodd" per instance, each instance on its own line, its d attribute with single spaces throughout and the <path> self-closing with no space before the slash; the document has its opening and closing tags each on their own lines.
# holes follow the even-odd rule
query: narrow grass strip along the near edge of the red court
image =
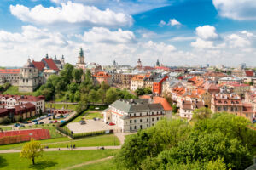
<svg viewBox="0 0 256 170">
<path fill-rule="evenodd" d="M 49 144 L 49 143 L 55 143 L 55 142 L 63 142 L 63 141 L 69 141 L 71 139 L 67 137 L 62 137 L 62 138 L 55 138 L 55 139 L 44 139 L 40 140 L 41 144 Z M 20 150 L 24 144 L 27 142 L 22 142 L 19 144 L 5 144 L 5 145 L 0 145 L 0 150 Z"/>
</svg>

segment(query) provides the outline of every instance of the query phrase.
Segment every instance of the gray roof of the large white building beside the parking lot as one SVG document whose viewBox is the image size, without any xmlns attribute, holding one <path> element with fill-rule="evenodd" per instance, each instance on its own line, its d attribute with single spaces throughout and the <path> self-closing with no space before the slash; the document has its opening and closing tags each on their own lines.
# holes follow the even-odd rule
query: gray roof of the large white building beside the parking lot
<svg viewBox="0 0 256 170">
<path fill-rule="evenodd" d="M 151 104 L 148 103 L 149 99 L 125 99 L 125 100 L 116 100 L 110 106 L 120 110 L 129 112 L 137 111 L 162 111 L 163 106 L 161 104 Z"/>
</svg>

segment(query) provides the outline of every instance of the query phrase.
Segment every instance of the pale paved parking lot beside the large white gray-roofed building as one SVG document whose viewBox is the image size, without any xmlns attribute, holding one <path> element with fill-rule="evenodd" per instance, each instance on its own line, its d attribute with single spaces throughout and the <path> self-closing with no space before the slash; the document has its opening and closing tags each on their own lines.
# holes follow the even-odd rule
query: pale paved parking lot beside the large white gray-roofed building
<svg viewBox="0 0 256 170">
<path fill-rule="evenodd" d="M 80 124 L 79 122 L 68 123 L 67 127 L 73 131 L 73 133 L 89 133 L 96 132 L 102 130 L 110 130 L 110 129 L 118 129 L 116 125 L 109 126 L 104 123 L 102 120 L 94 121 L 94 120 L 86 120 L 86 124 Z"/>
</svg>

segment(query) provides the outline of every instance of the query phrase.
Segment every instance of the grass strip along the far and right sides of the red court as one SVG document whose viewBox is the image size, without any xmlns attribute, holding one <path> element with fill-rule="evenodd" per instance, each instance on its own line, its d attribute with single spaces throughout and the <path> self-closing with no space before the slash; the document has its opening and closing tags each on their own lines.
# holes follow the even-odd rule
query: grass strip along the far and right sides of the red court
<svg viewBox="0 0 256 170">
<path fill-rule="evenodd" d="M 57 126 L 57 125 L 56 124 L 32 125 L 29 127 L 20 127 L 20 130 L 33 129 L 33 128 L 44 128 L 44 129 L 49 129 L 49 134 L 52 139 L 53 138 L 61 138 L 62 135 L 61 135 L 61 133 L 58 133 L 55 126 Z"/>
</svg>

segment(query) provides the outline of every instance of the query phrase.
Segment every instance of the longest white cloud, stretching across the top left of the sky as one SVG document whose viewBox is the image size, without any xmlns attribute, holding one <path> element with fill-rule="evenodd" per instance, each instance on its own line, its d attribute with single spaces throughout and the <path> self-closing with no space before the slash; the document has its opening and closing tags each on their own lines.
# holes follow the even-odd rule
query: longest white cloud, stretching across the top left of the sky
<svg viewBox="0 0 256 170">
<path fill-rule="evenodd" d="M 45 8 L 42 5 L 27 8 L 10 5 L 11 14 L 22 21 L 38 25 L 80 24 L 81 26 L 131 26 L 131 15 L 115 13 L 110 9 L 100 10 L 80 3 L 61 3 L 61 7 Z"/>
</svg>

